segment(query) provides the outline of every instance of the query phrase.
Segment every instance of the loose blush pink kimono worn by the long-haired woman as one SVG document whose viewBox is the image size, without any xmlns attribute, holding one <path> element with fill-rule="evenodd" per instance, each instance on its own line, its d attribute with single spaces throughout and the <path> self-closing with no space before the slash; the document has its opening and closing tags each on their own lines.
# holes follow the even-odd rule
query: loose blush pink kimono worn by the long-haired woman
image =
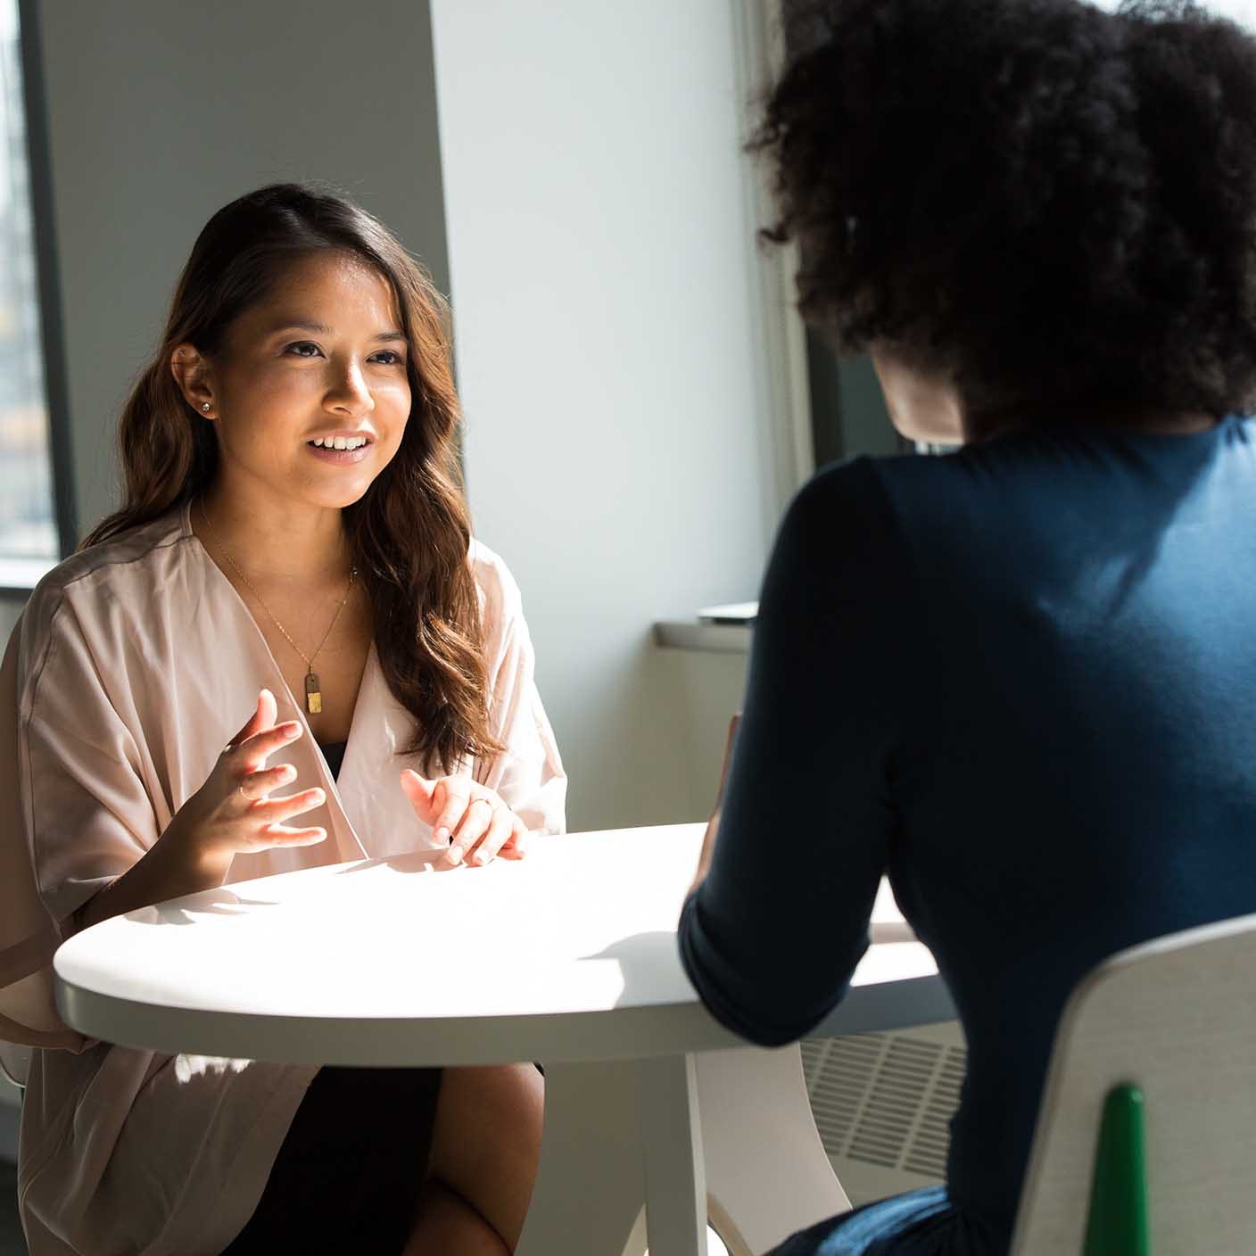
<svg viewBox="0 0 1256 1256">
<path fill-rule="evenodd" d="M 484 545 L 472 543 L 468 560 L 490 726 L 507 750 L 466 770 L 529 829 L 561 831 L 566 777 L 519 589 Z M 51 996 L 48 965 L 72 913 L 157 840 L 263 686 L 279 720 L 303 718 L 186 507 L 62 563 L 10 642 L 0 671 L 0 1039 L 26 1044 L 3 1059 L 26 1080 L 18 1191 L 31 1256 L 220 1252 L 256 1206 L 317 1071 L 85 1040 Z M 339 781 L 308 730 L 270 760 L 298 769 L 291 791 L 327 790 L 327 840 L 240 855 L 227 879 L 433 847 L 398 784 L 402 767 L 420 766 L 399 754 L 412 728 L 372 647 Z"/>
</svg>

